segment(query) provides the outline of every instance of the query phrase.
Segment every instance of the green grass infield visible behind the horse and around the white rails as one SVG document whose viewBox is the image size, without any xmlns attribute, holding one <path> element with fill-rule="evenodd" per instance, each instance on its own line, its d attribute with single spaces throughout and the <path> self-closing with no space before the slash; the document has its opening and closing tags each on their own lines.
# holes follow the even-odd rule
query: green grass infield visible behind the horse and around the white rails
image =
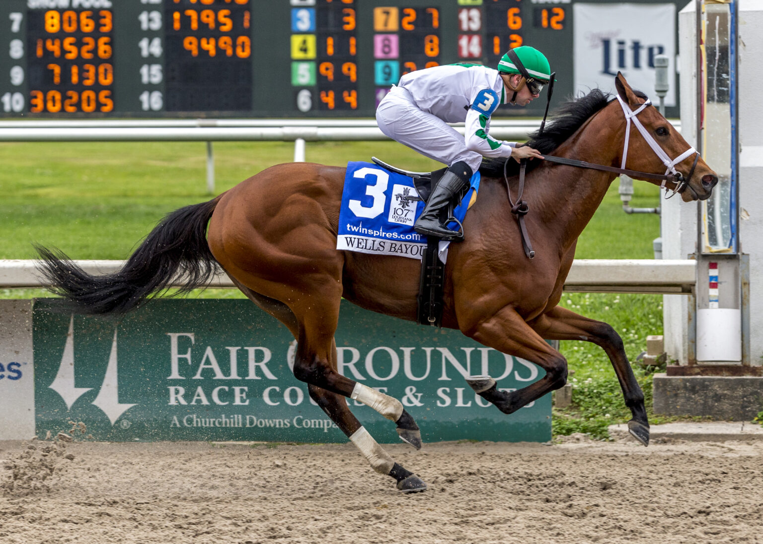
<svg viewBox="0 0 763 544">
<path fill-rule="evenodd" d="M 290 162 L 290 142 L 216 142 L 216 191 L 256 172 Z M 372 155 L 403 168 L 439 164 L 394 142 L 309 142 L 307 160 L 344 165 Z M 0 259 L 35 257 L 32 242 L 61 248 L 75 259 L 124 259 L 166 213 L 208 200 L 203 142 L 0 143 Z M 658 206 L 658 189 L 636 182 L 631 206 Z M 532 204 L 531 204 L 532 206 Z M 577 258 L 652 258 L 656 215 L 623 213 L 617 181 L 578 242 Z M 44 290 L 0 290 L 0 298 L 49 296 Z M 204 298 L 241 297 L 237 290 L 195 291 Z M 649 334 L 662 334 L 662 296 L 569 294 L 562 304 L 609 322 L 630 360 Z M 562 342 L 575 374 L 573 404 L 555 411 L 554 433 L 607 437 L 607 425 L 627 421 L 617 379 L 604 351 Z M 634 367 L 651 411 L 651 376 Z"/>
</svg>

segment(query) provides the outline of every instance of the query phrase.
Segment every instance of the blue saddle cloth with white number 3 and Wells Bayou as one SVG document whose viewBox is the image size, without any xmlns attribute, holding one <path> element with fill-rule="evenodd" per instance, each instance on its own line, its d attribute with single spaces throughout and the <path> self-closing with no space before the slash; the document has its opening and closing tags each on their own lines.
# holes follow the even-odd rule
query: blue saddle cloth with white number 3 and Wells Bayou
<svg viewBox="0 0 763 544">
<path fill-rule="evenodd" d="M 464 204 L 454 210 L 459 221 L 466 215 L 465 203 L 472 203 L 478 186 L 479 172 L 472 178 Z M 424 203 L 411 197 L 418 197 L 412 178 L 370 162 L 349 162 L 336 249 L 420 260 L 427 248 L 427 237 L 414 231 L 414 222 Z M 458 226 L 451 222 L 449 228 L 455 230 Z"/>
</svg>

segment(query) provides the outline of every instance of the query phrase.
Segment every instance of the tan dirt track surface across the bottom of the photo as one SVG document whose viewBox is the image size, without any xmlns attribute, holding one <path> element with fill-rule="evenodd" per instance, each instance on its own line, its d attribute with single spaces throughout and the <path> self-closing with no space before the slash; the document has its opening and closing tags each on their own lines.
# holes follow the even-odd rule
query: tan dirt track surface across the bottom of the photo
<svg viewBox="0 0 763 544">
<path fill-rule="evenodd" d="M 763 544 L 763 442 L 387 446 L 412 495 L 349 445 L 50 445 L 0 442 L 2 544 Z"/>
</svg>

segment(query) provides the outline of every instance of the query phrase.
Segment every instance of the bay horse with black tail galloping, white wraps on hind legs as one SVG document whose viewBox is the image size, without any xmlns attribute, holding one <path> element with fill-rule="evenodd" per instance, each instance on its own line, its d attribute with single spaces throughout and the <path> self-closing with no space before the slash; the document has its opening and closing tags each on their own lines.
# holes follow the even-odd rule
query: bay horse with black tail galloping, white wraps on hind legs
<svg viewBox="0 0 763 544">
<path fill-rule="evenodd" d="M 710 197 L 718 180 L 715 172 L 623 75 L 617 75 L 615 85 L 615 100 L 594 89 L 566 104 L 529 145 L 557 158 L 640 171 L 641 178 L 655 184 L 650 173 L 661 174 L 667 166 L 674 177 L 666 186 L 680 190 L 684 201 Z M 629 134 L 632 122 L 641 125 L 640 135 L 636 130 Z M 542 379 L 514 392 L 497 389 L 489 376 L 468 379 L 475 392 L 506 414 L 565 384 L 565 357 L 544 339 L 599 345 L 633 414 L 629 429 L 648 445 L 644 396 L 620 336 L 607 323 L 558 306 L 578 236 L 616 173 L 551 158 L 536 161 L 526 174 L 531 208 L 526 227 L 537 248 L 533 259 L 523 253 L 507 199 L 507 187 L 517 190 L 517 175 L 504 180 L 504 162 L 483 163 L 478 199 L 463 222 L 466 239 L 449 248 L 442 326 L 546 370 Z M 308 163 L 273 166 L 209 202 L 170 213 L 114 274 L 91 276 L 60 251 L 38 246 L 40 271 L 76 312 L 104 315 L 133 309 L 163 293 L 180 275 L 182 290 L 191 290 L 216 274 L 219 264 L 249 299 L 291 331 L 298 341 L 295 376 L 307 382 L 311 398 L 372 468 L 395 478 L 401 491 L 423 491 L 426 483 L 375 442 L 346 398 L 394 421 L 401 439 L 418 449 L 420 430 L 414 419 L 398 399 L 336 370 L 340 300 L 415 321 L 420 267 L 410 258 L 336 249 L 345 170 Z"/>
</svg>

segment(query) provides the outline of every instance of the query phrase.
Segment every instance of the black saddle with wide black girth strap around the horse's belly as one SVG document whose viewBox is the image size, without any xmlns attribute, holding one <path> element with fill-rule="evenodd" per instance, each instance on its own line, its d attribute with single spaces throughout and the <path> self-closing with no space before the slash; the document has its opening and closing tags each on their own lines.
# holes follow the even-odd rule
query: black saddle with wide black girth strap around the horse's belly
<svg viewBox="0 0 763 544">
<path fill-rule="evenodd" d="M 414 187 L 419 194 L 418 198 L 411 200 L 422 200 L 424 203 L 429 200 L 432 194 L 432 188 L 436 186 L 440 178 L 443 177 L 447 168 L 441 168 L 433 172 L 414 172 L 403 170 L 376 157 L 371 160 L 381 168 L 386 168 L 396 174 L 403 174 L 414 180 Z M 452 215 L 452 210 L 446 210 Z M 431 325 L 433 327 L 441 326 L 443 319 L 443 286 L 445 285 L 445 264 L 439 260 L 439 238 L 434 236 L 427 237 L 427 250 L 424 251 L 421 259 L 421 274 L 419 280 L 419 295 L 417 296 L 417 323 L 419 325 Z"/>
</svg>

